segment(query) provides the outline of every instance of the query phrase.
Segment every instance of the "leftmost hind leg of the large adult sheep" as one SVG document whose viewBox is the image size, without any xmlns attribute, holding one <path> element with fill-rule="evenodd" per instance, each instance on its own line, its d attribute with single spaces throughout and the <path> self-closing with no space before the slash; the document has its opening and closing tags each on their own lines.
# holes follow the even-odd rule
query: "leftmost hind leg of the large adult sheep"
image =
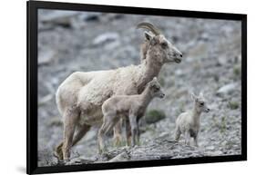
<svg viewBox="0 0 256 175">
<path fill-rule="evenodd" d="M 64 141 L 62 146 L 64 160 L 69 160 L 70 157 L 70 149 L 72 147 L 78 117 L 79 113 L 75 107 L 67 109 L 64 115 Z"/>
</svg>

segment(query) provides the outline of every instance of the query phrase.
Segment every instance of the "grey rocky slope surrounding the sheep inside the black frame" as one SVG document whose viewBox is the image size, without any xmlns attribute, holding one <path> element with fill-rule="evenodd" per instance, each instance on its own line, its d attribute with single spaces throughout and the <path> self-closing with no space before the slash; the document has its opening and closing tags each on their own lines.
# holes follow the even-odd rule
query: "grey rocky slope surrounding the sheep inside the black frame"
<svg viewBox="0 0 256 175">
<path fill-rule="evenodd" d="M 39 166 L 57 163 L 53 149 L 62 139 L 57 86 L 75 71 L 138 64 L 143 32 L 135 26 L 141 21 L 159 26 L 184 55 L 182 63 L 165 65 L 159 74 L 166 98 L 148 106 L 140 146 L 113 148 L 109 135 L 109 152 L 98 156 L 95 127 L 74 147 L 69 163 L 241 154 L 240 22 L 47 10 L 38 16 Z M 201 116 L 200 147 L 185 146 L 183 138 L 174 142 L 175 119 L 192 106 L 189 92 L 201 91 L 211 112 Z"/>
</svg>

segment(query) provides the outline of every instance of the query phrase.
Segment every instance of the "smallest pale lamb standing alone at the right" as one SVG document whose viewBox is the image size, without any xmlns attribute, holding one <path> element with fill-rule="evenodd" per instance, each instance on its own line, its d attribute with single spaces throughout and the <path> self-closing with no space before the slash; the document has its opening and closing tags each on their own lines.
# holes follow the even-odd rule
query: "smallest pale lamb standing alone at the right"
<svg viewBox="0 0 256 175">
<path fill-rule="evenodd" d="M 195 146 L 198 146 L 200 114 L 201 112 L 210 112 L 210 109 L 207 107 L 202 93 L 199 96 L 191 93 L 191 98 L 194 102 L 193 110 L 181 113 L 176 120 L 175 140 L 179 141 L 182 133 L 185 135 L 185 144 L 189 145 L 190 138 L 193 138 Z"/>
</svg>

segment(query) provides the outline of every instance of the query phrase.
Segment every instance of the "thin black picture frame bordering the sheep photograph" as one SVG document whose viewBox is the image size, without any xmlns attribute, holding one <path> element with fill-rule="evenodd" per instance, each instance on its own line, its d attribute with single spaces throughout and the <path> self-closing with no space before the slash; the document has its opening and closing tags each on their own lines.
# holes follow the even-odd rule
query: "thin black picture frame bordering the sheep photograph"
<svg viewBox="0 0 256 175">
<path fill-rule="evenodd" d="M 97 163 L 69 166 L 37 166 L 37 9 L 62 9 L 72 11 L 97 11 L 134 15 L 165 15 L 225 19 L 241 21 L 241 155 L 186 158 L 179 160 L 141 160 L 129 162 Z M 26 2 L 27 19 L 27 131 L 26 173 L 53 173 L 82 170 L 112 170 L 138 167 L 167 166 L 195 163 L 247 160 L 247 15 L 212 12 L 196 12 L 113 5 L 85 5 L 42 1 Z"/>
</svg>

